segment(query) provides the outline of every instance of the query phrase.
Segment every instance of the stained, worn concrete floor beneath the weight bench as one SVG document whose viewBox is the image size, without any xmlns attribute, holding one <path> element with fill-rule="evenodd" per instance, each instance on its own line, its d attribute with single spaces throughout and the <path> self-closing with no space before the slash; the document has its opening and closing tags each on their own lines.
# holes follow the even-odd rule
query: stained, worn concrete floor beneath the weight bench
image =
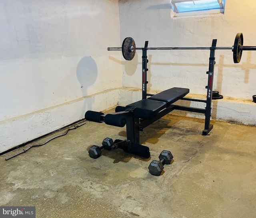
<svg viewBox="0 0 256 218">
<path fill-rule="evenodd" d="M 203 136 L 203 120 L 166 115 L 141 132 L 150 159 L 117 149 L 94 160 L 90 146 L 125 139 L 126 129 L 87 121 L 9 161 L 22 148 L 2 155 L 0 206 L 36 206 L 37 218 L 256 217 L 256 127 L 212 123 Z M 152 176 L 164 149 L 174 162 Z"/>
</svg>

